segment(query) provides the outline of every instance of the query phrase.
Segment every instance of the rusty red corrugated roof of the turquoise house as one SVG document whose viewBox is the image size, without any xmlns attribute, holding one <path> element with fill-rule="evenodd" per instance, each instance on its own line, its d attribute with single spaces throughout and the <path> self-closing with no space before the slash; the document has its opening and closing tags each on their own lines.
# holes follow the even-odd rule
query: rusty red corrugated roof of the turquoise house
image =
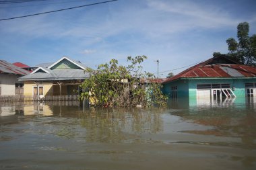
<svg viewBox="0 0 256 170">
<path fill-rule="evenodd" d="M 166 79 L 163 83 L 180 78 L 199 77 L 256 77 L 256 68 L 247 65 L 239 65 L 229 58 L 218 56 L 190 67 L 178 75 Z"/>
</svg>

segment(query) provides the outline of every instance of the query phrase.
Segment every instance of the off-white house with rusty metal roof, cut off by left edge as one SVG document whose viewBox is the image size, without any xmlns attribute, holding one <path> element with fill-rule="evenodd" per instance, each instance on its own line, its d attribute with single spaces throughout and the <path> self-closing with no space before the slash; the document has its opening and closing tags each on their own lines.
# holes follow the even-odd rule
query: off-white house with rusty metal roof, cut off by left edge
<svg viewBox="0 0 256 170">
<path fill-rule="evenodd" d="M 28 74 L 30 74 L 29 71 L 0 60 L 0 96 L 23 95 L 24 83 L 18 81 L 18 78 Z"/>
</svg>

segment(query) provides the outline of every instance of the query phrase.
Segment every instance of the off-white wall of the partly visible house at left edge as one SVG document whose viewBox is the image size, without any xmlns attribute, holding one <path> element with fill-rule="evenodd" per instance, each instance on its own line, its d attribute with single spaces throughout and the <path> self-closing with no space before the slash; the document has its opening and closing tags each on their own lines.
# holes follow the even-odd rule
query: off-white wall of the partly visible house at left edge
<svg viewBox="0 0 256 170">
<path fill-rule="evenodd" d="M 15 83 L 20 83 L 18 77 L 20 77 L 20 75 L 0 74 L 0 94 L 15 95 Z"/>
</svg>

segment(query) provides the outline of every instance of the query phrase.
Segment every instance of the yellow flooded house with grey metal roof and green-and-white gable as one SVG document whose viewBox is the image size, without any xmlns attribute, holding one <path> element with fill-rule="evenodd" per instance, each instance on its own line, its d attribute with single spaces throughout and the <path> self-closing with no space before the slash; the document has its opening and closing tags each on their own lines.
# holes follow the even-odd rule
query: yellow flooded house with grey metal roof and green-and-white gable
<svg viewBox="0 0 256 170">
<path fill-rule="evenodd" d="M 75 95 L 79 85 L 88 79 L 81 62 L 63 56 L 48 67 L 40 66 L 30 75 L 20 77 L 24 82 L 24 95 L 44 96 Z"/>
</svg>

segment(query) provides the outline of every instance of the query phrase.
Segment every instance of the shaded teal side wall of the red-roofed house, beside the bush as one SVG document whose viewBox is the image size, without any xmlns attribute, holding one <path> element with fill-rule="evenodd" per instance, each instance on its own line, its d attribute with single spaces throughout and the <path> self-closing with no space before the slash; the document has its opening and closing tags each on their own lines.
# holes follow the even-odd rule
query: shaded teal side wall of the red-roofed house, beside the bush
<svg viewBox="0 0 256 170">
<path fill-rule="evenodd" d="M 171 87 L 173 86 L 177 86 L 177 97 L 189 96 L 189 83 L 187 80 L 172 81 L 170 83 L 164 84 L 162 89 L 163 93 L 169 95 L 171 92 Z"/>
</svg>

